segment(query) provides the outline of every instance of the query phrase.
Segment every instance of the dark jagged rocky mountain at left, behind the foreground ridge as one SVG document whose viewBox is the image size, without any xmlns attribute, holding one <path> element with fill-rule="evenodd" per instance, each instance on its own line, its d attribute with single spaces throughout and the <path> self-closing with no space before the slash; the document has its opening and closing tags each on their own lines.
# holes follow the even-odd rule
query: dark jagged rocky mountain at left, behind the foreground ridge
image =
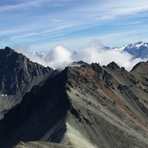
<svg viewBox="0 0 148 148">
<path fill-rule="evenodd" d="M 9 47 L 0 49 L 0 118 L 23 95 L 53 75 L 53 69 L 31 62 Z"/>
</svg>

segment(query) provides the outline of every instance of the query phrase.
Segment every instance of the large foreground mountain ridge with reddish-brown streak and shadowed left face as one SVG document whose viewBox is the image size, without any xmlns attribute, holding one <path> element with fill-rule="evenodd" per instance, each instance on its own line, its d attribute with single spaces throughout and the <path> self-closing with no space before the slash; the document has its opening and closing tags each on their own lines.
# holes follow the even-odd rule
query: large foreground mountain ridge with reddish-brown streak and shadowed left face
<svg viewBox="0 0 148 148">
<path fill-rule="evenodd" d="M 0 147 L 148 147 L 147 66 L 65 68 L 5 114 Z"/>
</svg>

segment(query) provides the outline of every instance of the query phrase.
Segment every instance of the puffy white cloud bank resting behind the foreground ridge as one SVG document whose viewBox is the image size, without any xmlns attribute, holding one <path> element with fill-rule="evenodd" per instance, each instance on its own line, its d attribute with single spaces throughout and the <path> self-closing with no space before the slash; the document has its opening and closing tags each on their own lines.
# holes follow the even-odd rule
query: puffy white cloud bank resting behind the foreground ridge
<svg viewBox="0 0 148 148">
<path fill-rule="evenodd" d="M 120 67 L 125 67 L 125 69 L 129 71 L 138 62 L 147 60 L 133 58 L 133 56 L 127 52 L 114 49 L 104 49 L 96 40 L 92 41 L 86 48 L 83 48 L 75 53 L 63 45 L 57 45 L 42 58 L 28 53 L 23 48 L 17 48 L 16 50 L 25 54 L 28 58 L 30 58 L 30 60 L 54 69 L 63 69 L 65 66 L 68 66 L 74 61 L 82 60 L 88 64 L 97 62 L 100 65 L 107 65 L 114 61 Z"/>
</svg>

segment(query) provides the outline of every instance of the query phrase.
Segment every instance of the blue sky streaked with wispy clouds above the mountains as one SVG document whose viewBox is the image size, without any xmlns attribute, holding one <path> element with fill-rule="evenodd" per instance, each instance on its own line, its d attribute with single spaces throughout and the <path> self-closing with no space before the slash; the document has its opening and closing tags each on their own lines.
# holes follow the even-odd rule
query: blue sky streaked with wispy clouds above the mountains
<svg viewBox="0 0 148 148">
<path fill-rule="evenodd" d="M 94 39 L 111 47 L 148 42 L 148 1 L 0 1 L 0 48 L 77 50 Z"/>
</svg>

